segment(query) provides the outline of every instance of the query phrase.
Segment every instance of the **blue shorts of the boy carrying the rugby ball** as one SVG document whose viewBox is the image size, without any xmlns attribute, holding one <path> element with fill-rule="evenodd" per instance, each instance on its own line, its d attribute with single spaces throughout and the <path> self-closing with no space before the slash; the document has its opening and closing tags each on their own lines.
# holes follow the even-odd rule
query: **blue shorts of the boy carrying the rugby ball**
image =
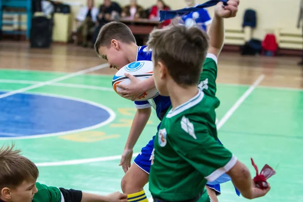
<svg viewBox="0 0 303 202">
<path fill-rule="evenodd" d="M 151 153 L 153 153 L 153 150 L 154 150 L 154 139 L 155 139 L 155 136 L 153 137 L 153 139 L 151 139 L 146 144 L 146 146 L 144 146 L 141 149 L 140 154 L 134 160 L 134 163 L 148 174 L 149 174 L 150 165 L 151 165 Z M 219 140 L 219 142 L 220 142 L 220 140 Z M 221 194 L 220 183 L 228 182 L 230 180 L 231 179 L 228 175 L 223 174 L 218 179 L 216 179 L 214 182 L 207 183 L 206 185 L 209 188 L 215 190 L 217 195 L 220 195 Z M 218 182 L 218 184 L 216 182 Z M 236 193 L 239 195 L 237 189 L 236 189 Z"/>
</svg>

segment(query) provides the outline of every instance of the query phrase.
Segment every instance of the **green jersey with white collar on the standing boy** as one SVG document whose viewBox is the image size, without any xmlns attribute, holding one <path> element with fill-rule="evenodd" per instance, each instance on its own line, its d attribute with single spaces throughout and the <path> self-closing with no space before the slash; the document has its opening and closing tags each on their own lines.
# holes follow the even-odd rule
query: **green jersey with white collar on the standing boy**
<svg viewBox="0 0 303 202">
<path fill-rule="evenodd" d="M 207 181 L 214 181 L 237 161 L 217 141 L 215 59 L 208 57 L 204 63 L 201 91 L 183 105 L 170 108 L 162 121 L 149 173 L 149 190 L 154 197 L 181 201 L 204 192 L 199 201 L 209 201 Z"/>
</svg>

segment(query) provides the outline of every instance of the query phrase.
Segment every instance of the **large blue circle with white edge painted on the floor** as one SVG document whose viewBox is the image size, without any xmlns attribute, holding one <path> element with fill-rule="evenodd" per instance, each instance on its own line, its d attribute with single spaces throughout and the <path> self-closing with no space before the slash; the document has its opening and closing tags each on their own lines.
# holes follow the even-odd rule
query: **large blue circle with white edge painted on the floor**
<svg viewBox="0 0 303 202">
<path fill-rule="evenodd" d="M 18 93 L 0 99 L 0 138 L 80 130 L 104 123 L 110 117 L 105 107 L 85 100 Z"/>
</svg>

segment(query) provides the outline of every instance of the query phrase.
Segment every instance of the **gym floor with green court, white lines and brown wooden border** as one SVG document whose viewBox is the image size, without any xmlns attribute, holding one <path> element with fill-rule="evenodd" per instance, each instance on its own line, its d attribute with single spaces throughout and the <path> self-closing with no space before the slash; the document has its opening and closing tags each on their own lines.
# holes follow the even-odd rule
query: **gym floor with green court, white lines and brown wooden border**
<svg viewBox="0 0 303 202">
<path fill-rule="evenodd" d="M 255 201 L 303 201 L 303 69 L 296 57 L 222 53 L 218 63 L 219 138 L 250 169 L 276 169 L 270 193 Z M 135 108 L 111 86 L 115 70 L 93 49 L 0 43 L 0 145 L 15 143 L 49 186 L 108 194 L 120 190 L 119 167 Z M 153 114 L 134 147 L 159 124 Z M 134 156 L 136 155 L 134 154 Z M 231 182 L 220 201 L 246 201 Z M 150 197 L 148 184 L 145 191 Z"/>
</svg>

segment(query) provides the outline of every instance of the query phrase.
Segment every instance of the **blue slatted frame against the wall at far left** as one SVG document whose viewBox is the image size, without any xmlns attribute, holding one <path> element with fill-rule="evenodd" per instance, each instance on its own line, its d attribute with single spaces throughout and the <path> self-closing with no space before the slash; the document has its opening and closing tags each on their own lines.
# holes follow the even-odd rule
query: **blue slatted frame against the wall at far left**
<svg viewBox="0 0 303 202">
<path fill-rule="evenodd" d="M 25 12 L 3 12 L 4 7 L 9 8 L 25 8 Z M 17 14 L 17 15 L 27 15 L 27 30 L 26 30 L 26 38 L 30 38 L 30 28 L 31 28 L 31 20 L 32 20 L 32 1 L 31 0 L 0 0 L 0 31 L 3 33 L 12 33 L 12 34 L 24 34 L 24 32 L 20 31 L 3 31 L 2 25 L 3 24 L 16 24 L 13 21 L 3 21 L 3 14 Z M 18 24 L 22 24 L 21 22 L 17 22 Z"/>
</svg>

